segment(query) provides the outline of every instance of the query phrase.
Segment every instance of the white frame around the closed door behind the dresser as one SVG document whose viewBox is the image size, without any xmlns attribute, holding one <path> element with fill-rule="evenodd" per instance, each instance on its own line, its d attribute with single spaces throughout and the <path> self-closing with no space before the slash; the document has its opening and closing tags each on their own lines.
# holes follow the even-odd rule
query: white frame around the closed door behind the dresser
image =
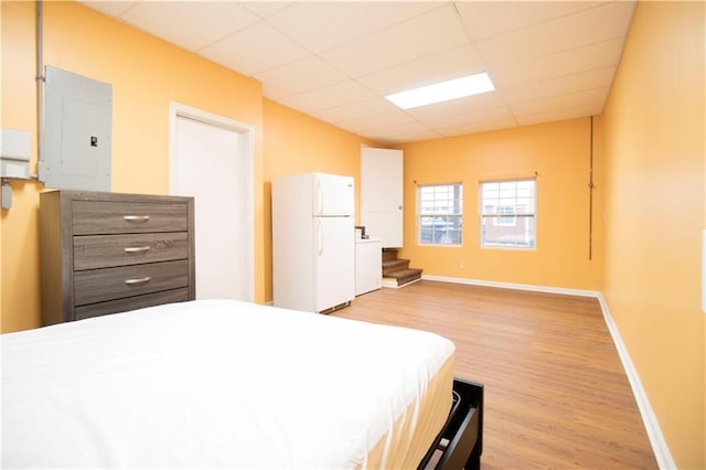
<svg viewBox="0 0 706 470">
<path fill-rule="evenodd" d="M 245 188 L 242 195 L 244 197 L 244 213 L 246 221 L 243 224 L 246 227 L 243 234 L 244 257 L 243 268 L 245 269 L 243 290 L 245 300 L 255 301 L 255 126 L 239 122 L 223 116 L 214 115 L 202 109 L 192 108 L 191 106 L 179 103 L 169 103 L 169 192 L 173 192 L 172 181 L 175 181 L 176 158 L 176 118 L 183 117 L 193 119 L 210 126 L 231 130 L 239 135 L 237 156 L 245 157 L 242 162 L 246 174 L 243 179 Z M 195 236 L 199 236 L 196 233 Z M 199 269 L 199 257 L 196 256 L 196 269 Z"/>
</svg>

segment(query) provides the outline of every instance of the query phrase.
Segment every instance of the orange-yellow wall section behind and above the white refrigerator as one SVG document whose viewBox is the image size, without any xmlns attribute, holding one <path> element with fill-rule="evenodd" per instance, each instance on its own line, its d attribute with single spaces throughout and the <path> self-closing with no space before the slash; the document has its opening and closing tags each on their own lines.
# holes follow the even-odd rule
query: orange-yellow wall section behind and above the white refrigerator
<svg viewBox="0 0 706 470">
<path fill-rule="evenodd" d="M 270 189 L 274 178 L 287 174 L 321 172 L 355 178 L 355 194 L 360 194 L 361 146 L 373 142 L 322 122 L 269 99 L 263 106 L 265 122 L 265 224 L 271 234 Z M 355 201 L 360 221 L 360 197 Z M 268 276 L 265 291 L 272 295 L 271 238 L 266 244 L 265 264 Z"/>
</svg>

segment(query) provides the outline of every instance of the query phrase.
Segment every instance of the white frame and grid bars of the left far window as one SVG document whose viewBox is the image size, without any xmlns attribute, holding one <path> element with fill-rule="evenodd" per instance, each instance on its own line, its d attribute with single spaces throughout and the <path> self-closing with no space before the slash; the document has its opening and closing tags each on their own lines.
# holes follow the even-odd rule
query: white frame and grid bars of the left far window
<svg viewBox="0 0 706 470">
<path fill-rule="evenodd" d="M 456 186 L 456 189 L 454 189 Z M 446 203 L 447 207 L 452 207 L 451 211 L 431 211 L 428 212 L 422 204 L 422 190 L 425 188 L 449 188 L 453 195 L 439 200 L 439 202 Z M 458 191 L 458 196 L 456 192 Z M 436 203 L 436 199 L 434 200 Z M 436 204 L 435 204 L 436 205 Z M 417 244 L 419 246 L 445 246 L 445 247 L 461 247 L 463 245 L 463 183 L 460 181 L 449 183 L 430 183 L 430 184 L 417 184 Z M 425 221 L 431 218 L 432 224 L 438 223 L 451 224 L 450 227 L 439 229 L 441 235 L 437 235 L 437 231 L 431 227 L 431 231 L 425 229 Z M 456 218 L 458 221 L 457 226 L 449 218 Z M 445 233 L 442 233 L 445 232 Z M 449 232 L 452 234 L 458 232 L 458 243 L 453 238 L 449 237 Z M 425 238 L 429 238 L 426 239 Z M 445 238 L 446 237 L 446 238 Z M 448 242 L 440 242 L 448 239 Z"/>
</svg>

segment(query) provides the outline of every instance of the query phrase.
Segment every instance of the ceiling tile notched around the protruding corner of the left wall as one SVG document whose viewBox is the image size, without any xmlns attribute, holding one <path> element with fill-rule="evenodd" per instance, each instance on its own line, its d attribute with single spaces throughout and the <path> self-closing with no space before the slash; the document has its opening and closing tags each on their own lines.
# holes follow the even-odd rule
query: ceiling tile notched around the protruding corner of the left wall
<svg viewBox="0 0 706 470">
<path fill-rule="evenodd" d="M 284 98 L 347 79 L 315 55 L 256 74 L 255 78 L 263 82 L 263 93 L 269 99 Z"/>
</svg>

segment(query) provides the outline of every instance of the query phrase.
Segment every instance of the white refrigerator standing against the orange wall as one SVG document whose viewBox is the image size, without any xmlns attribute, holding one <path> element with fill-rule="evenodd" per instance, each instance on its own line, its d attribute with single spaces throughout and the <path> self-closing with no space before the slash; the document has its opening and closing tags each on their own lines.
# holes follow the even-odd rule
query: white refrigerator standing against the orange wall
<svg viewBox="0 0 706 470">
<path fill-rule="evenodd" d="M 352 177 L 304 173 L 272 180 L 275 307 L 325 312 L 355 297 Z"/>
</svg>

